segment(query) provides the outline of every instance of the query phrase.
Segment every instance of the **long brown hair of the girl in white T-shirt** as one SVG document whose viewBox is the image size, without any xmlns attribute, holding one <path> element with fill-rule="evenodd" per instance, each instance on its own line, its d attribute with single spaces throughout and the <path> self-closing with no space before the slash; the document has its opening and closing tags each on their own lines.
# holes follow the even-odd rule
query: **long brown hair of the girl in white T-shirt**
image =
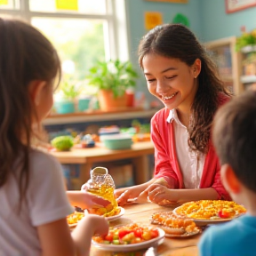
<svg viewBox="0 0 256 256">
<path fill-rule="evenodd" d="M 29 152 L 35 135 L 32 119 L 36 113 L 28 84 L 33 80 L 50 84 L 58 74 L 60 59 L 45 36 L 21 20 L 0 18 L 0 188 L 13 173 L 20 201 L 28 187 Z"/>
</svg>

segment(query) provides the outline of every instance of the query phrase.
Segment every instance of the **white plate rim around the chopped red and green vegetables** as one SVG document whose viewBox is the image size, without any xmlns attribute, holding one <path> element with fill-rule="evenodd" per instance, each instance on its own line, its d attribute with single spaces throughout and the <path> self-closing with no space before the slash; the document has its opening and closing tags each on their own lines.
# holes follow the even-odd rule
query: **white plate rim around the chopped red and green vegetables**
<svg viewBox="0 0 256 256">
<path fill-rule="evenodd" d="M 164 230 L 161 228 L 157 228 L 159 232 L 159 236 L 156 238 L 153 238 L 151 240 L 141 242 L 138 244 L 124 244 L 124 245 L 116 245 L 116 244 L 99 244 L 92 240 L 92 245 L 96 248 L 99 248 L 104 251 L 110 251 L 110 252 L 129 252 L 129 251 L 137 251 L 140 249 L 149 248 L 151 246 L 156 247 L 159 244 L 164 243 Z"/>
</svg>

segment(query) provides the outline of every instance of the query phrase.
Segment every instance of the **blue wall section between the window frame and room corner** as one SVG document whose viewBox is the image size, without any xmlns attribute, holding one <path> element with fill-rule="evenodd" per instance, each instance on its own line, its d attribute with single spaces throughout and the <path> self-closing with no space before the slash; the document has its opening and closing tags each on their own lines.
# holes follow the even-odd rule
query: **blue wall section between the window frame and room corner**
<svg viewBox="0 0 256 256">
<path fill-rule="evenodd" d="M 190 28 L 196 33 L 196 36 L 202 36 L 201 20 L 202 13 L 197 12 L 200 9 L 200 0 L 189 0 L 188 4 L 170 4 L 148 2 L 146 0 L 126 0 L 126 15 L 128 21 L 129 36 L 131 38 L 129 44 L 131 48 L 131 60 L 134 65 L 138 65 L 137 48 L 140 38 L 147 33 L 144 25 L 144 12 L 162 12 L 164 23 L 172 22 L 177 13 L 181 13 L 188 17 Z M 144 92 L 147 99 L 155 100 L 148 92 L 144 76 L 138 81 L 137 91 Z"/>
</svg>

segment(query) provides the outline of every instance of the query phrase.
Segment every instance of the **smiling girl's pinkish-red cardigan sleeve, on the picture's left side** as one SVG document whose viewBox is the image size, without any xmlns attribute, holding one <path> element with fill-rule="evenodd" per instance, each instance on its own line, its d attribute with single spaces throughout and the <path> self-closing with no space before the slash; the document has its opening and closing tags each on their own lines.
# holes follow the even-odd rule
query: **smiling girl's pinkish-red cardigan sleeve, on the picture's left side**
<svg viewBox="0 0 256 256">
<path fill-rule="evenodd" d="M 151 139 L 155 146 L 154 178 L 164 178 L 164 180 L 166 180 L 170 188 L 173 188 L 173 183 L 174 188 L 179 188 L 179 180 L 172 168 L 170 156 L 168 156 L 166 152 L 167 138 L 164 137 L 164 141 L 159 133 L 158 124 L 156 123 L 156 115 L 153 116 L 151 119 Z"/>
</svg>

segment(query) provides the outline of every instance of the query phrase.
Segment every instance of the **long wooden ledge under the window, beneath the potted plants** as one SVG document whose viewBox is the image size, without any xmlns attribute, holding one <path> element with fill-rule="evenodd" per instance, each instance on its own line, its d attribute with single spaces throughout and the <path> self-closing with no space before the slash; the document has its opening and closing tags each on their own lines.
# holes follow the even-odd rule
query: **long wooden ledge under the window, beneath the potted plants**
<svg viewBox="0 0 256 256">
<path fill-rule="evenodd" d="M 152 117 L 159 108 L 121 108 L 115 111 L 90 110 L 86 112 L 76 112 L 71 114 L 53 114 L 44 120 L 44 125 L 52 124 L 75 124 L 96 121 L 122 120 L 140 117 Z"/>
</svg>

